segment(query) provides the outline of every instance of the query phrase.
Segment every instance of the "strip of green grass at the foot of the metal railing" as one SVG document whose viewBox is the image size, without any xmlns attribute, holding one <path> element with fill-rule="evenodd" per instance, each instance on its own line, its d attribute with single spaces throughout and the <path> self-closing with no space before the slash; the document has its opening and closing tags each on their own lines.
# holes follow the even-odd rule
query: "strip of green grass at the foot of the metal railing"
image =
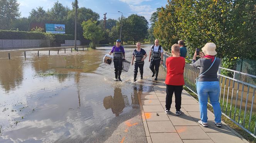
<svg viewBox="0 0 256 143">
<path fill-rule="evenodd" d="M 192 86 L 194 87 L 194 86 Z M 194 94 L 192 91 L 190 91 L 187 87 L 183 87 L 187 92 L 189 92 L 190 95 L 192 95 L 195 99 L 198 100 L 198 97 L 196 94 Z M 210 102 L 210 101 L 209 101 Z M 221 103 L 223 101 L 221 100 Z M 224 113 L 226 113 L 226 102 L 224 101 L 224 107 L 223 107 L 223 111 Z M 237 123 L 239 123 L 240 125 L 243 125 L 244 122 L 244 128 L 249 127 L 249 117 L 250 117 L 250 112 L 246 111 L 244 112 L 244 110 L 241 109 L 241 113 L 240 113 L 240 121 L 238 122 L 238 118 L 239 118 L 239 109 L 240 107 L 236 107 L 236 112 L 235 112 L 235 107 L 234 105 L 232 105 L 231 110 L 230 110 L 231 105 L 228 103 L 227 104 L 227 116 L 229 116 L 229 113 L 231 114 L 230 118 L 232 118 L 233 120 L 235 119 L 235 121 Z M 211 105 L 207 105 L 207 108 L 213 112 L 213 108 Z M 222 105 L 221 105 L 222 108 Z M 244 119 L 244 113 L 246 113 L 246 117 Z M 236 115 L 236 117 L 234 118 L 234 115 Z M 253 136 L 251 136 L 248 132 L 246 132 L 245 130 L 243 130 L 243 128 L 239 127 L 238 125 L 236 125 L 234 122 L 232 122 L 229 118 L 222 116 L 221 120 L 223 122 L 225 122 L 227 125 L 229 125 L 233 130 L 235 130 L 237 133 L 239 133 L 241 136 L 243 136 L 243 138 L 245 138 L 247 141 L 249 141 L 250 143 L 256 143 L 256 138 L 254 138 Z M 255 122 L 256 122 L 256 113 L 253 112 L 252 116 L 251 116 L 251 125 L 249 128 L 249 131 L 251 131 L 252 133 L 254 132 L 254 127 L 255 127 Z"/>
</svg>

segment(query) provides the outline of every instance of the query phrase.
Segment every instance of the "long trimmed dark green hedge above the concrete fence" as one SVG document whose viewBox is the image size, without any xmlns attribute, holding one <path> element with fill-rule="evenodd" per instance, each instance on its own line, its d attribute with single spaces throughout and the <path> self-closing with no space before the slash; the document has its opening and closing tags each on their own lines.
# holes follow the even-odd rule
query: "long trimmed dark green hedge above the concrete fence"
<svg viewBox="0 0 256 143">
<path fill-rule="evenodd" d="M 54 40 L 51 46 L 61 46 L 61 43 L 65 43 L 65 40 L 74 39 L 71 34 L 52 35 L 54 35 Z M 0 39 L 47 39 L 47 37 L 42 32 L 0 30 Z"/>
</svg>

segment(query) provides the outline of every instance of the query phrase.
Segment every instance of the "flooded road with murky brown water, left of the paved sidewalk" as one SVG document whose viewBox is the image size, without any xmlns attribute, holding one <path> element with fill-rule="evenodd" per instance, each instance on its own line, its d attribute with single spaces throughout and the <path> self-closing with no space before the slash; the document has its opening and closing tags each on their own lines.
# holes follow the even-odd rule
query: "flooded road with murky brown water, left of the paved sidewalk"
<svg viewBox="0 0 256 143">
<path fill-rule="evenodd" d="M 143 80 L 130 66 L 114 81 L 114 65 L 102 63 L 110 49 L 0 51 L 0 142 L 147 142 L 138 93 L 157 82 L 148 60 Z M 125 46 L 128 61 L 134 49 Z"/>
</svg>

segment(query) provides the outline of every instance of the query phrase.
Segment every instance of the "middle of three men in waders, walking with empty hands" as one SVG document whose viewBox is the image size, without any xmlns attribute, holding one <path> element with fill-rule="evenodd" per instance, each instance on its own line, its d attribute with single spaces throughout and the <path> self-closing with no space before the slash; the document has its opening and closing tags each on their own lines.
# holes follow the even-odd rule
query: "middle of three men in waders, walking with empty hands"
<svg viewBox="0 0 256 143">
<path fill-rule="evenodd" d="M 133 65 L 133 61 L 135 59 L 134 64 L 134 82 L 136 81 L 138 67 L 140 68 L 140 79 L 143 79 L 143 66 L 144 66 L 144 59 L 147 58 L 147 53 L 144 49 L 140 48 L 140 42 L 137 43 L 137 48 L 133 51 L 133 58 L 131 60 L 131 65 Z"/>
</svg>

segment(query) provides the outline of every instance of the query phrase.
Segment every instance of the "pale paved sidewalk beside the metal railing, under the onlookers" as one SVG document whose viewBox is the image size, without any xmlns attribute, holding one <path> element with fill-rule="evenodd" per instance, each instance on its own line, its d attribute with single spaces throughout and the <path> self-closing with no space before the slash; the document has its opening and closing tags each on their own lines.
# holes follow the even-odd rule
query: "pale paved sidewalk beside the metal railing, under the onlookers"
<svg viewBox="0 0 256 143">
<path fill-rule="evenodd" d="M 217 128 L 214 114 L 208 110 L 208 127 L 202 127 L 199 103 L 185 90 L 182 92 L 182 114 L 175 115 L 175 97 L 173 94 L 171 113 L 165 108 L 165 84 L 158 81 L 152 84 L 152 90 L 140 91 L 139 103 L 143 125 L 148 143 L 249 143 L 226 123 Z"/>
</svg>

